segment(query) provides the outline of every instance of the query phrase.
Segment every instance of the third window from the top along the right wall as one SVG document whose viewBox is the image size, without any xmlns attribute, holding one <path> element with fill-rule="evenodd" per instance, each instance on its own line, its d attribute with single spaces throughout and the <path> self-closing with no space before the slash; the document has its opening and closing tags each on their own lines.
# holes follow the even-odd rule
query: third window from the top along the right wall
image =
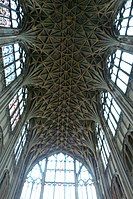
<svg viewBox="0 0 133 199">
<path fill-rule="evenodd" d="M 105 120 L 107 121 L 112 134 L 115 135 L 120 119 L 121 109 L 109 92 L 102 93 L 101 102 Z"/>
</svg>

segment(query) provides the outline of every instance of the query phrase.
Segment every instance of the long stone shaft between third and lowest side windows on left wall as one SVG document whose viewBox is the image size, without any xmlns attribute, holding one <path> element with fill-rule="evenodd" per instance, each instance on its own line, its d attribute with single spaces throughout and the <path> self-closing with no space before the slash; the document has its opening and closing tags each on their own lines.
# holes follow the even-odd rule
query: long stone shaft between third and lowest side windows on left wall
<svg viewBox="0 0 133 199">
<path fill-rule="evenodd" d="M 10 140 L 7 143 L 5 150 L 3 150 L 3 153 L 0 158 L 0 175 L 2 175 L 2 172 L 7 168 L 8 163 L 13 158 L 14 146 L 16 144 L 16 141 L 18 139 L 18 136 L 21 132 L 21 129 L 25 121 L 26 121 L 26 110 L 22 114 L 21 121 L 18 123 L 19 125 L 16 127 L 15 132 L 10 135 Z"/>
</svg>

